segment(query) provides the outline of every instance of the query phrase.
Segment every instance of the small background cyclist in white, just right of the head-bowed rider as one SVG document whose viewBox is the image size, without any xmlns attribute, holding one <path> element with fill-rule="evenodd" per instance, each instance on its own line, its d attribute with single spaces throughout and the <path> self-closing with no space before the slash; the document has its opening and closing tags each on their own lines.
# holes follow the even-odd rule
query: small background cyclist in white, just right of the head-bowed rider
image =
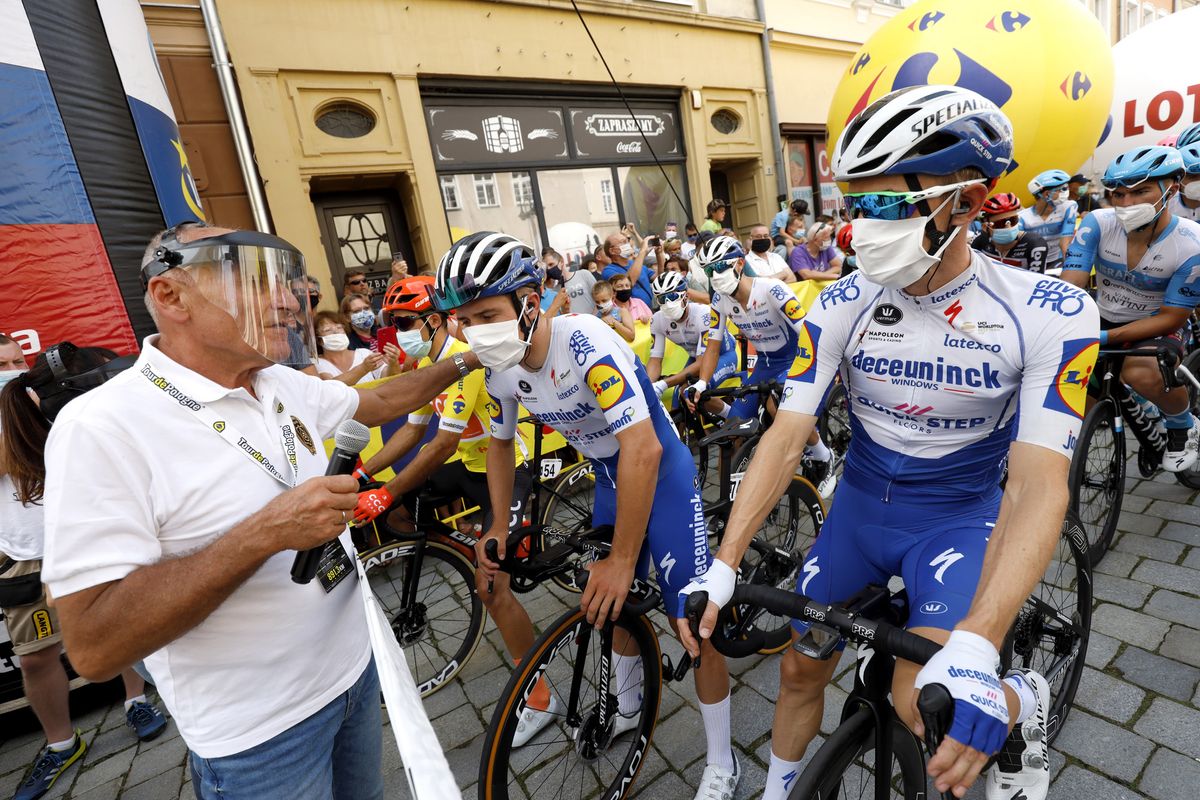
<svg viewBox="0 0 1200 800">
<path fill-rule="evenodd" d="M 659 309 L 650 320 L 650 360 L 646 363 L 646 372 L 654 381 L 655 396 L 661 396 L 667 389 L 700 374 L 700 362 L 696 359 L 704 353 L 712 309 L 706 303 L 688 300 L 688 278 L 682 272 L 656 275 L 650 282 L 650 289 L 659 301 Z M 662 378 L 662 356 L 666 355 L 668 341 L 683 348 L 688 354 L 688 362 L 679 372 Z M 737 342 L 733 341 L 732 333 L 725 331 L 720 357 L 713 372 L 713 385 L 720 386 L 737 369 Z M 673 403 L 678 402 L 677 392 Z M 714 399 L 709 410 L 724 415 L 728 413 L 728 407 L 720 399 Z"/>
</svg>

